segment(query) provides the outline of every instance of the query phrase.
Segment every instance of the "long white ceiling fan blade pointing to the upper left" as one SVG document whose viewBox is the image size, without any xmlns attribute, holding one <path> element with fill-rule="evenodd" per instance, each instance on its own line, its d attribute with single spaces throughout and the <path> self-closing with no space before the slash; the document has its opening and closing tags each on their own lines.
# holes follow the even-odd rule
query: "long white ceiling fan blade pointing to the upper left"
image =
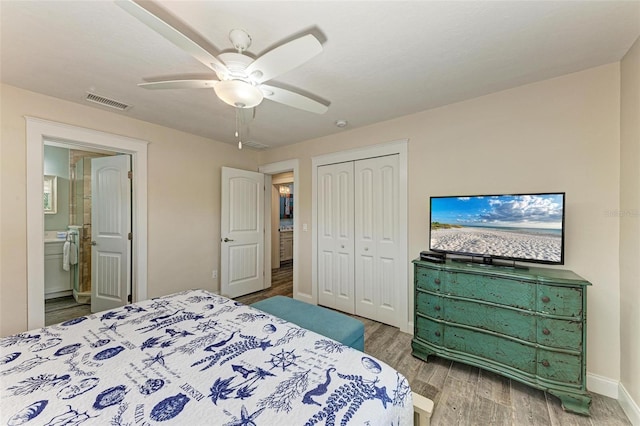
<svg viewBox="0 0 640 426">
<path fill-rule="evenodd" d="M 153 11 L 154 4 L 151 2 L 135 2 L 133 0 L 116 1 L 116 4 L 129 12 L 143 24 L 202 62 L 208 68 L 221 74 L 228 72 L 227 67 L 215 56 L 209 53 L 204 47 L 196 43 L 191 38 L 184 35 L 171 24 L 157 16 Z M 157 7 L 156 7 L 157 8 Z"/>
</svg>

